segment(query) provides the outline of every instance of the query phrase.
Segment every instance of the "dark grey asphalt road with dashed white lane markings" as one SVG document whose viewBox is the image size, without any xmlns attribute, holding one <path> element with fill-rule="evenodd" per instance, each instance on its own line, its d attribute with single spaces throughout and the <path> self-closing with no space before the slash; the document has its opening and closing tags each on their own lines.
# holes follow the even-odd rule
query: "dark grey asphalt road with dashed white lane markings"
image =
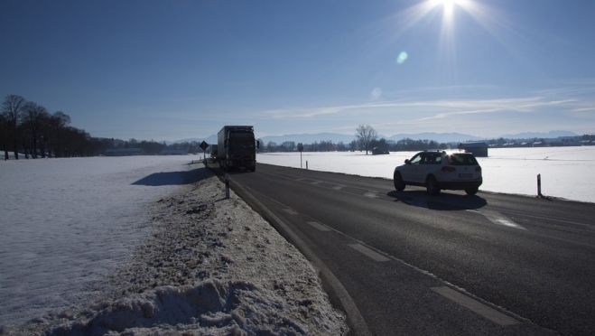
<svg viewBox="0 0 595 336">
<path fill-rule="evenodd" d="M 595 334 L 595 204 L 260 163 L 229 175 L 319 269 L 352 334 Z"/>
</svg>

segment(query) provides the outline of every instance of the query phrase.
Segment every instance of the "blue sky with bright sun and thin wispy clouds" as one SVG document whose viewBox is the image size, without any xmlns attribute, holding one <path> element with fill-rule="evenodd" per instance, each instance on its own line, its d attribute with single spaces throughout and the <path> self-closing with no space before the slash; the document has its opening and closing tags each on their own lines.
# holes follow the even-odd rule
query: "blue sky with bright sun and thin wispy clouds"
<svg viewBox="0 0 595 336">
<path fill-rule="evenodd" d="M 595 133 L 595 1 L 0 1 L 0 97 L 93 136 Z"/>
</svg>

